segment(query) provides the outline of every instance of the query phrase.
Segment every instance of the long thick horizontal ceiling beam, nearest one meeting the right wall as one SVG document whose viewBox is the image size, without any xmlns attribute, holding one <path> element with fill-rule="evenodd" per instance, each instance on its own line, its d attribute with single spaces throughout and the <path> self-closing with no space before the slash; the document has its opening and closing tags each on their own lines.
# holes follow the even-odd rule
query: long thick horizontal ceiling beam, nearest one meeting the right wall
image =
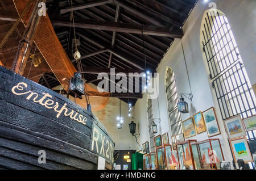
<svg viewBox="0 0 256 181">
<path fill-rule="evenodd" d="M 73 23 L 68 20 L 52 20 L 53 26 L 64 26 L 64 27 L 73 27 Z M 181 29 L 175 29 L 168 31 L 166 28 L 160 28 L 156 26 L 141 26 L 138 24 L 126 24 L 126 23 L 117 23 L 117 22 L 106 22 L 98 20 L 89 20 L 89 19 L 79 19 L 74 23 L 76 28 L 85 28 L 93 30 L 104 30 L 104 31 L 116 31 L 116 32 L 125 32 L 125 33 L 136 33 L 143 35 L 152 35 L 152 36 L 166 36 L 172 38 L 182 38 L 183 31 Z"/>
</svg>

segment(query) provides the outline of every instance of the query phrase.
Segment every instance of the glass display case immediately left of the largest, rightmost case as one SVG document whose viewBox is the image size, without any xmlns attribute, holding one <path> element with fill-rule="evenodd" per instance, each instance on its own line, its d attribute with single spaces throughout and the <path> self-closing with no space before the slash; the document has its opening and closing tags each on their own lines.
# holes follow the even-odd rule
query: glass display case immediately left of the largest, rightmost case
<svg viewBox="0 0 256 181">
<path fill-rule="evenodd" d="M 180 170 L 195 170 L 195 161 L 192 154 L 191 144 L 196 140 L 187 140 L 176 145 Z"/>
</svg>

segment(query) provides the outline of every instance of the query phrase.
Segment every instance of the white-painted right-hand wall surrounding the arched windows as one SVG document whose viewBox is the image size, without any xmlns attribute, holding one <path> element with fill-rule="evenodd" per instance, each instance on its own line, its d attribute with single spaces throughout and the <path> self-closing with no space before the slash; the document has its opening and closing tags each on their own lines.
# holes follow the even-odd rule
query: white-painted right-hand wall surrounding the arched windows
<svg viewBox="0 0 256 181">
<path fill-rule="evenodd" d="M 217 9 L 224 12 L 228 17 L 238 48 L 240 49 L 242 60 L 249 75 L 249 79 L 251 84 L 254 85 L 254 83 L 256 83 L 256 1 L 215 0 L 210 2 L 216 2 Z M 181 114 L 182 120 L 188 119 L 198 111 L 204 111 L 214 106 L 216 108 L 217 118 L 222 134 L 211 138 L 220 138 L 225 159 L 232 160 L 224 124 L 220 116 L 220 110 L 218 109 L 218 103 L 214 95 L 215 93 L 213 92 L 214 90 L 210 85 L 208 67 L 205 64 L 205 60 L 203 60 L 200 48 L 201 20 L 203 18 L 204 11 L 209 9 L 208 3 L 205 3 L 203 0 L 199 0 L 199 2 L 197 2 L 195 9 L 193 9 L 191 15 L 189 15 L 183 26 L 183 39 L 176 39 L 174 41 L 171 48 L 165 54 L 162 62 L 159 64 L 157 69 L 159 73 L 159 98 L 158 100 L 153 100 L 154 118 L 160 117 L 160 134 L 171 132 L 164 85 L 166 68 L 169 66 L 175 73 L 178 93 L 192 92 L 193 94 L 192 102 L 189 104 L 189 113 Z M 183 43 L 184 54 L 187 61 L 191 90 L 189 89 L 188 76 L 181 49 L 181 41 Z M 189 100 L 186 101 L 189 102 Z M 139 99 L 135 104 L 135 120 L 138 121 L 139 133 L 141 134 L 141 136 L 139 136 L 139 143 L 142 144 L 145 141 L 149 141 L 148 129 L 146 129 L 146 94 L 143 95 L 143 99 Z M 207 138 L 207 132 L 204 132 L 189 139 L 201 141 Z"/>
</svg>

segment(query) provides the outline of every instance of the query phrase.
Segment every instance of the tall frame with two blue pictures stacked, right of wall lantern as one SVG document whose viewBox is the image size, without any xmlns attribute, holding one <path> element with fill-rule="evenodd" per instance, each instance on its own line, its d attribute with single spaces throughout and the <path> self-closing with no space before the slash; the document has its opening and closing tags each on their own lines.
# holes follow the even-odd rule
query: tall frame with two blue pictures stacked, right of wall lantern
<svg viewBox="0 0 256 181">
<path fill-rule="evenodd" d="M 202 114 L 204 117 L 208 137 L 221 134 L 214 107 L 210 107 L 208 110 L 205 110 Z"/>
</svg>

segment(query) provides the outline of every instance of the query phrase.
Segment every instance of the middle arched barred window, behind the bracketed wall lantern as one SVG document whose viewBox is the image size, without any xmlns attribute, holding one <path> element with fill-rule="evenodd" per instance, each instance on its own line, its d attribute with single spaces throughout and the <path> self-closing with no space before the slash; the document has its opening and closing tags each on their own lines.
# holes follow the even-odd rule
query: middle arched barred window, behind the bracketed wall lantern
<svg viewBox="0 0 256 181">
<path fill-rule="evenodd" d="M 166 70 L 166 96 L 172 136 L 176 134 L 181 134 L 181 115 L 179 110 L 177 109 L 179 95 L 177 94 L 174 71 L 172 71 L 171 68 L 167 68 Z"/>
</svg>

